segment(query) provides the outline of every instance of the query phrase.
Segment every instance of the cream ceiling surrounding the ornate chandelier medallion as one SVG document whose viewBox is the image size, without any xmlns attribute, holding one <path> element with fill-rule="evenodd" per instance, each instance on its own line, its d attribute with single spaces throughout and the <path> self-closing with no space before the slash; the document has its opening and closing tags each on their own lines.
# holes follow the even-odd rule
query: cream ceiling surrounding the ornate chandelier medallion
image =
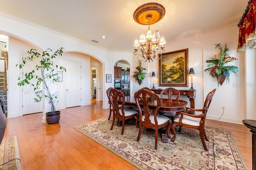
<svg viewBox="0 0 256 170">
<path fill-rule="evenodd" d="M 135 37 L 148 26 L 136 23 L 133 13 L 148 2 L 166 9 L 164 18 L 150 28 L 167 42 L 237 25 L 248 5 L 248 0 L 0 0 L 0 12 L 112 51 L 134 51 Z"/>
</svg>

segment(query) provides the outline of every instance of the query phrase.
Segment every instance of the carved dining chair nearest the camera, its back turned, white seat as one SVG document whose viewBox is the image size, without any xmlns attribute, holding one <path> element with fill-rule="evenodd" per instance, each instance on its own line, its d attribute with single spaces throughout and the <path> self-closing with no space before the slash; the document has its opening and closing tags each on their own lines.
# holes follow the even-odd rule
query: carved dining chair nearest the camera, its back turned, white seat
<svg viewBox="0 0 256 170">
<path fill-rule="evenodd" d="M 168 125 L 168 129 L 170 130 L 171 127 L 169 118 L 164 115 L 158 114 L 158 109 L 160 108 L 160 98 L 151 90 L 149 91 L 145 89 L 140 89 L 137 92 L 135 92 L 134 98 L 136 106 L 138 107 L 139 110 L 139 133 L 137 141 L 140 141 L 140 135 L 142 133 L 143 126 L 146 128 L 155 129 L 155 149 L 157 149 L 158 129 L 166 127 L 166 125 Z M 143 115 L 142 107 L 140 105 L 143 105 Z M 150 105 L 156 106 L 154 111 L 150 109 Z M 167 133 L 167 137 L 171 139 L 169 133 Z"/>
</svg>

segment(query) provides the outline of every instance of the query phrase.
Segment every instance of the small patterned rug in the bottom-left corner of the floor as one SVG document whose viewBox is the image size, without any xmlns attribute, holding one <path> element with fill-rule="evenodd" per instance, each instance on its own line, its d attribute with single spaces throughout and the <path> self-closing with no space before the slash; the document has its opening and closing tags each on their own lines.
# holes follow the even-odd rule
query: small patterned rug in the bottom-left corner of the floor
<svg viewBox="0 0 256 170">
<path fill-rule="evenodd" d="M 21 170 L 16 136 L 4 138 L 0 145 L 0 170 Z"/>
</svg>

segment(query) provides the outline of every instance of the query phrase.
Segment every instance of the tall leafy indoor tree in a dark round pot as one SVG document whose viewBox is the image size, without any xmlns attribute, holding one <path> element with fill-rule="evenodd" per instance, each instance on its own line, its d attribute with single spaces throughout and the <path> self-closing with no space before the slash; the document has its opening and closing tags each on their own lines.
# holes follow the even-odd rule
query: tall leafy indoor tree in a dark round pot
<svg viewBox="0 0 256 170">
<path fill-rule="evenodd" d="M 54 64 L 54 59 L 57 56 L 61 56 L 63 53 L 63 48 L 60 47 L 57 51 L 50 54 L 52 52 L 51 49 L 47 49 L 43 51 L 42 54 L 38 53 L 36 49 L 30 49 L 28 53 L 28 57 L 25 57 L 20 61 L 19 66 L 20 69 L 27 63 L 33 62 L 35 63 L 34 70 L 30 72 L 22 72 L 18 76 L 18 86 L 24 86 L 25 84 L 30 84 L 31 89 L 36 95 L 34 98 L 35 102 L 42 101 L 43 98 L 46 98 L 50 104 L 51 111 L 46 113 L 46 121 L 48 124 L 57 123 L 60 120 L 60 111 L 56 111 L 56 105 L 58 104 L 58 92 L 52 94 L 50 91 L 49 85 L 51 83 L 56 83 L 59 81 L 57 69 L 60 71 L 66 71 L 66 68 L 63 66 L 59 66 Z M 34 82 L 34 79 L 36 80 Z M 29 91 L 30 92 L 30 91 Z"/>
</svg>

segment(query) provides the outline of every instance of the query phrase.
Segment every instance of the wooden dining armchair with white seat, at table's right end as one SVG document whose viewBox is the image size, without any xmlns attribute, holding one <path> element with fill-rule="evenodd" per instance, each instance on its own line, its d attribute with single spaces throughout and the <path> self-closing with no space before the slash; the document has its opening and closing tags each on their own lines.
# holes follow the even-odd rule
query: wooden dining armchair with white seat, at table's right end
<svg viewBox="0 0 256 170">
<path fill-rule="evenodd" d="M 216 89 L 213 89 L 212 92 L 210 92 L 204 101 L 204 106 L 202 109 L 193 109 L 190 107 L 186 108 L 186 112 L 177 112 L 176 117 L 174 118 L 174 123 L 172 123 L 172 132 L 173 137 L 171 139 L 172 142 L 174 142 L 176 138 L 176 131 L 175 127 L 180 126 L 180 129 L 178 130 L 181 132 L 181 127 L 191 128 L 191 129 L 197 129 L 199 130 L 200 139 L 202 141 L 204 150 L 208 151 L 205 141 L 208 141 L 208 138 L 206 136 L 205 130 L 204 130 L 204 122 L 206 118 L 207 111 L 209 109 L 209 106 L 212 102 L 212 98 L 215 94 Z M 189 114 L 188 111 L 195 111 L 195 115 Z M 201 114 L 196 114 L 200 112 Z M 170 130 L 170 129 L 169 129 Z M 168 131 L 168 129 L 167 129 Z"/>
</svg>

